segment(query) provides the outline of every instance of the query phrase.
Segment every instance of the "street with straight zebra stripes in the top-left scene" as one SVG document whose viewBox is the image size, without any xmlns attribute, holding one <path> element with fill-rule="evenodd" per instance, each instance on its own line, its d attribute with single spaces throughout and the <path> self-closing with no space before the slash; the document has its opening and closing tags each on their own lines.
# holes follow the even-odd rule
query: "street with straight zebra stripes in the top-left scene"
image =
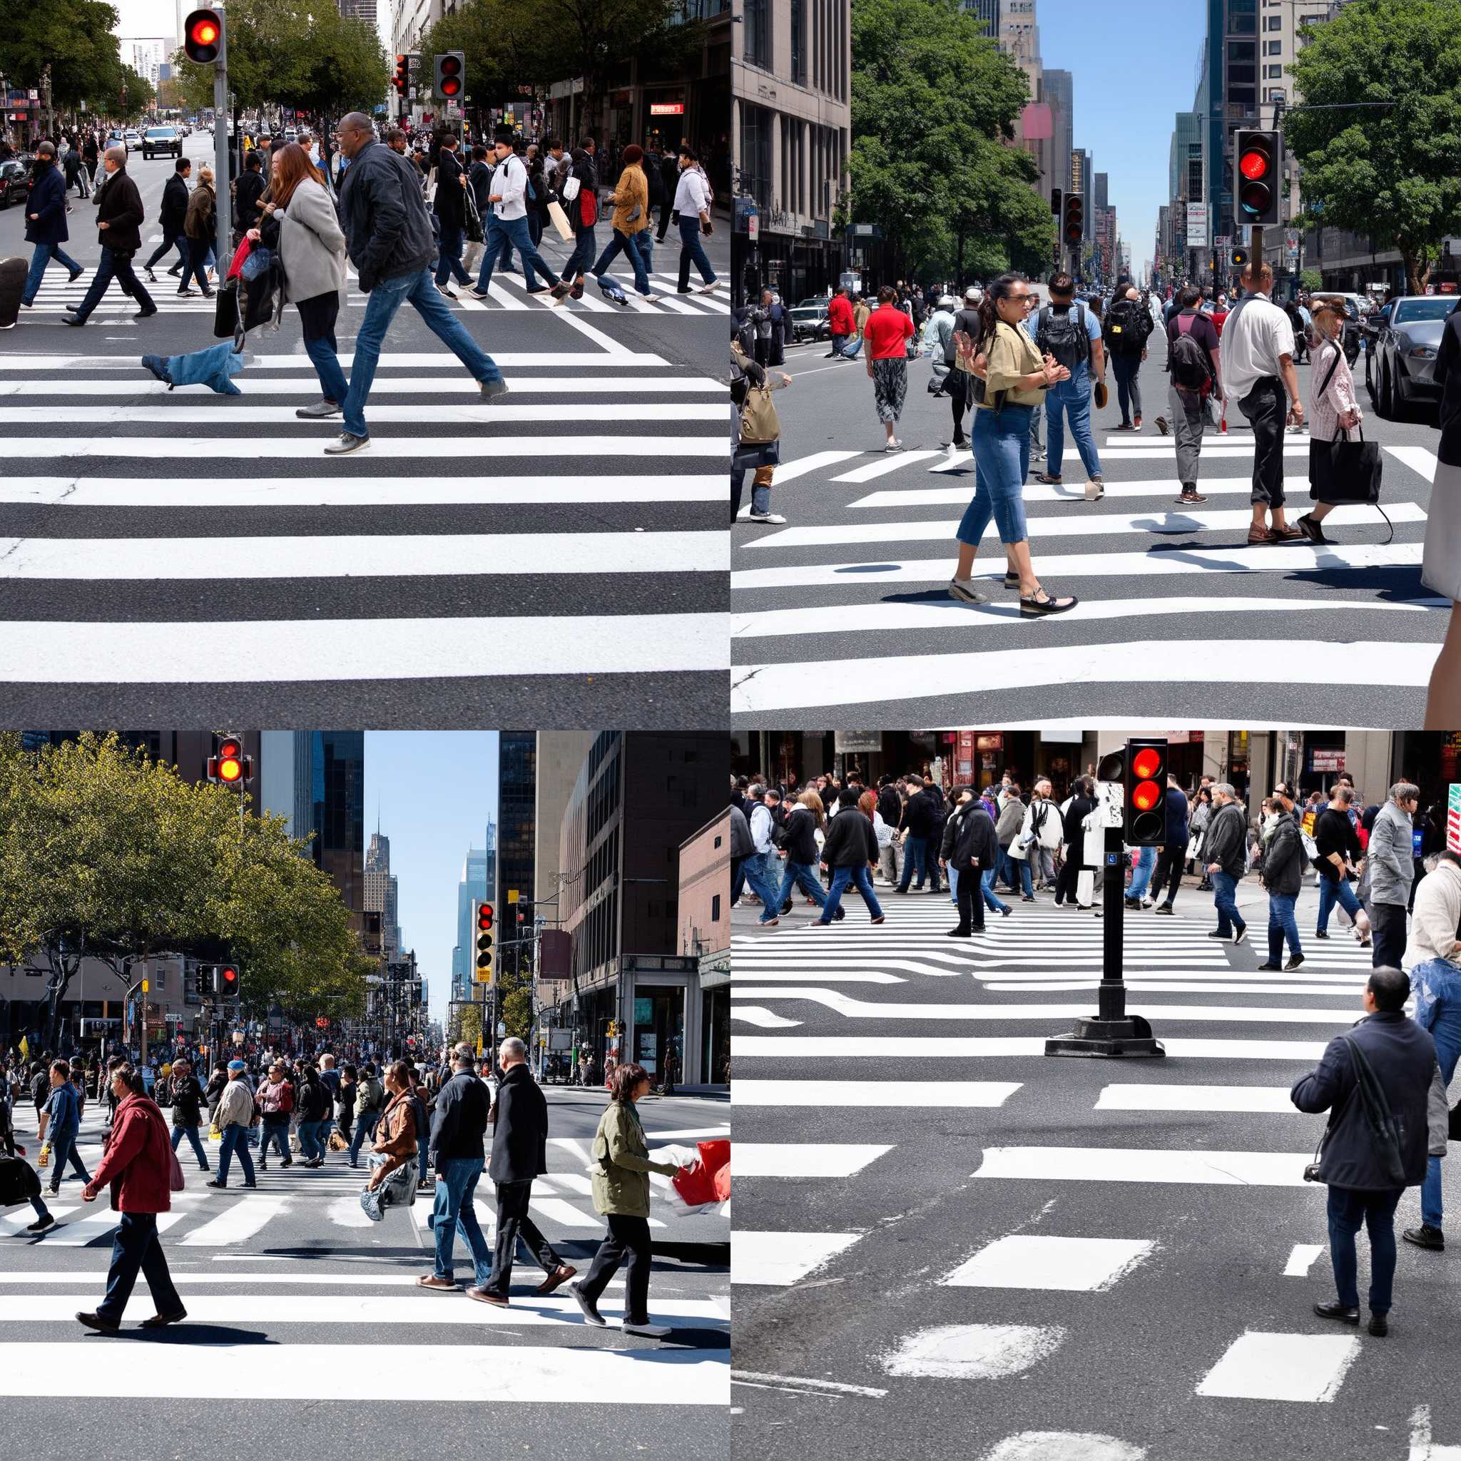
<svg viewBox="0 0 1461 1461">
<path fill-rule="evenodd" d="M 196 181 L 212 139 L 184 146 Z M 129 171 L 140 266 L 172 161 Z M 707 240 L 713 297 L 676 297 L 678 238 L 657 247 L 655 298 L 631 288 L 628 308 L 592 279 L 546 316 L 516 273 L 487 302 L 462 292 L 451 310 L 507 377 L 500 405 L 402 310 L 371 449 L 346 459 L 324 456 L 337 418 L 295 419 L 320 390 L 292 307 L 250 335 L 240 396 L 169 392 L 140 365 L 215 343 L 213 302 L 162 272 L 175 256 L 153 318 L 114 286 L 85 329 L 63 326 L 99 254 L 92 205 L 70 206 L 88 275 L 53 266 L 0 336 L 0 681 L 19 722 L 145 723 L 178 687 L 215 723 L 244 707 L 435 728 L 723 716 L 725 231 Z M 0 256 L 29 251 L 22 210 L 0 213 Z M 364 305 L 352 272 L 346 373 Z"/>
</svg>

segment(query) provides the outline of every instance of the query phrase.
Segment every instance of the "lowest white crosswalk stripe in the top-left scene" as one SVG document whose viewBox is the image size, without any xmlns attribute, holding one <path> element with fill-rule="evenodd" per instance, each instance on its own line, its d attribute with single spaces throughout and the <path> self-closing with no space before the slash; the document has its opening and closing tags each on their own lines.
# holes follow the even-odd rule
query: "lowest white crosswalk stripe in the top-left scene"
<svg viewBox="0 0 1461 1461">
<path fill-rule="evenodd" d="M 390 541 L 390 539 L 387 539 Z M 541 618 L 264 619 L 248 622 L 13 621 L 0 682 L 115 684 L 118 666 L 152 684 L 453 679 L 723 671 L 725 615 L 599 614 Z"/>
</svg>

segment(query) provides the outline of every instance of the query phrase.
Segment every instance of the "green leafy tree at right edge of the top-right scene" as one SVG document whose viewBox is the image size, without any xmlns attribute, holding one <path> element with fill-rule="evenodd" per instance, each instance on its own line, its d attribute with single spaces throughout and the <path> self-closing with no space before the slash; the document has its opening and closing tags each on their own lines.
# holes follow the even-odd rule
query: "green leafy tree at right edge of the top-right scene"
<svg viewBox="0 0 1461 1461">
<path fill-rule="evenodd" d="M 1354 0 L 1302 34 L 1289 72 L 1305 104 L 1284 137 L 1306 216 L 1398 250 L 1405 288 L 1423 294 L 1442 240 L 1461 232 L 1461 0 Z M 1319 110 L 1362 101 L 1386 105 Z"/>
</svg>

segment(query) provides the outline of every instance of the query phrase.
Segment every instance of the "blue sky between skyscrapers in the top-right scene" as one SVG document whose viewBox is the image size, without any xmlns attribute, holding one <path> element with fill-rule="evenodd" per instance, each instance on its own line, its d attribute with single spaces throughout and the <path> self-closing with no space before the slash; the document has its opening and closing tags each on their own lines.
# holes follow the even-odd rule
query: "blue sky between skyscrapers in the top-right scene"
<svg viewBox="0 0 1461 1461">
<path fill-rule="evenodd" d="M 1172 117 L 1192 108 L 1207 6 L 1037 0 L 1036 20 L 1042 63 L 1074 79 L 1075 146 L 1109 174 L 1107 202 L 1140 272 L 1151 259 L 1157 209 L 1167 202 Z"/>
</svg>

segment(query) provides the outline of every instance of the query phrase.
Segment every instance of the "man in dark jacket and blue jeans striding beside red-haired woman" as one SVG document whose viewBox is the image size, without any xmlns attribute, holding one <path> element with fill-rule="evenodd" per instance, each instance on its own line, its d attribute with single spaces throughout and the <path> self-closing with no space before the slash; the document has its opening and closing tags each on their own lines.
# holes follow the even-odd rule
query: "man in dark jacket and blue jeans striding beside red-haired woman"
<svg viewBox="0 0 1461 1461">
<path fill-rule="evenodd" d="M 375 140 L 375 129 L 364 112 L 352 111 L 336 136 L 351 164 L 340 184 L 340 225 L 361 289 L 370 295 L 355 336 L 351 392 L 342 411 L 345 430 L 339 441 L 324 449 L 330 456 L 343 456 L 370 446 L 365 402 L 386 332 L 408 300 L 432 335 L 479 381 L 484 400 L 506 396 L 507 381 L 447 308 L 431 279 L 431 221 L 411 164 Z"/>
</svg>

